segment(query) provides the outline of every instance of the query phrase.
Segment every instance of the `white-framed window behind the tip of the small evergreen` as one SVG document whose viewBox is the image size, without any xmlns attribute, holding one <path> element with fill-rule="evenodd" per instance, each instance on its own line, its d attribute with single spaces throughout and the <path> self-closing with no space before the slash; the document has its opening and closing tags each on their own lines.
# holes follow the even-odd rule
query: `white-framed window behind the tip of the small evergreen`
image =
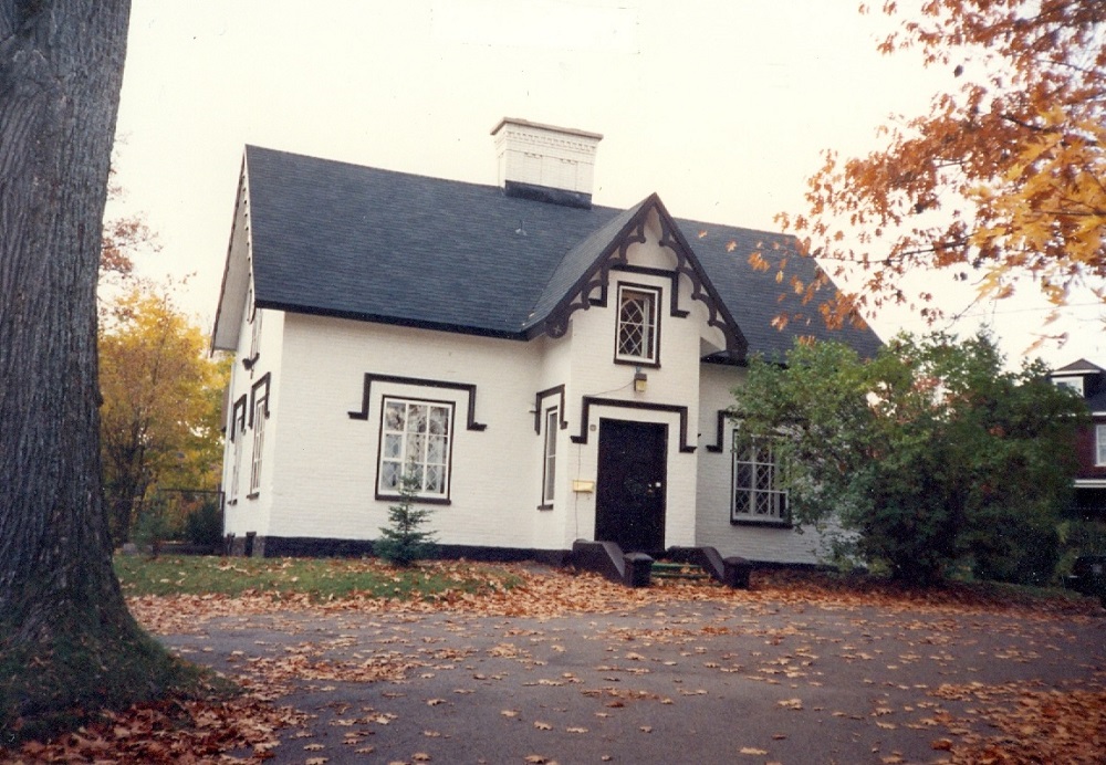
<svg viewBox="0 0 1106 765">
<path fill-rule="evenodd" d="M 377 493 L 397 495 L 405 475 L 424 499 L 448 499 L 453 405 L 384 398 Z"/>
</svg>

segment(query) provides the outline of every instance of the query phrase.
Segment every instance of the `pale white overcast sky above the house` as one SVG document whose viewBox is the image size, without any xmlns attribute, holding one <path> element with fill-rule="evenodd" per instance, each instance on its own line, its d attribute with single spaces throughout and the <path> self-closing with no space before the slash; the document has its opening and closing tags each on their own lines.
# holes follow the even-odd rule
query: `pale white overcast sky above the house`
<svg viewBox="0 0 1106 765">
<path fill-rule="evenodd" d="M 951 81 L 910 55 L 880 56 L 888 22 L 857 0 L 134 0 L 116 147 L 126 199 L 161 251 L 139 265 L 189 276 L 179 300 L 210 326 L 242 147 L 495 182 L 501 117 L 602 133 L 598 205 L 657 191 L 679 218 L 775 229 L 802 211 L 820 153 L 874 147 Z M 109 210 L 109 214 L 111 214 Z M 956 311 L 963 292 L 919 282 Z M 1023 295 L 1035 293 L 1026 285 Z M 1089 296 L 1048 332 L 1060 365 L 1106 365 Z M 1043 303 L 984 310 L 1016 359 Z M 974 331 L 973 321 L 953 327 Z M 883 337 L 925 325 L 902 312 Z"/>
</svg>

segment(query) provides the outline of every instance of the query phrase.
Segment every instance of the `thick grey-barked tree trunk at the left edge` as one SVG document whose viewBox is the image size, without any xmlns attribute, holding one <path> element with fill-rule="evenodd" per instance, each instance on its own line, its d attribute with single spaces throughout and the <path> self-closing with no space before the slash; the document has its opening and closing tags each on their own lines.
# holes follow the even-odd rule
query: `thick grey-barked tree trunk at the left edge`
<svg viewBox="0 0 1106 765">
<path fill-rule="evenodd" d="M 0 0 L 2 731 L 176 671 L 127 611 L 101 488 L 95 293 L 128 17 Z"/>
</svg>

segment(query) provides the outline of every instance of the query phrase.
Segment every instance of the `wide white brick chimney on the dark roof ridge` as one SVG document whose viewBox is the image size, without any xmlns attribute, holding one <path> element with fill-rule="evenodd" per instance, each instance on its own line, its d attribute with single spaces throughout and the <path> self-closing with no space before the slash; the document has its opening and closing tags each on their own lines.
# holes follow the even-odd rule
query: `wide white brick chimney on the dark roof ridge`
<svg viewBox="0 0 1106 765">
<path fill-rule="evenodd" d="M 592 206 L 598 133 L 504 117 L 492 129 L 499 184 L 508 196 Z"/>
</svg>

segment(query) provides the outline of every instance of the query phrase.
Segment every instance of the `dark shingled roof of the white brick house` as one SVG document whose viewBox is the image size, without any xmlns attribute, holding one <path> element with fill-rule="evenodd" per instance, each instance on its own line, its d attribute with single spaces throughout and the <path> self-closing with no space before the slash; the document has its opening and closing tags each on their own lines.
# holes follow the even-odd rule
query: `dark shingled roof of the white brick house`
<svg viewBox="0 0 1106 765">
<path fill-rule="evenodd" d="M 831 332 L 816 316 L 772 327 L 781 311 L 816 314 L 797 297 L 778 302 L 785 284 L 776 269 L 753 269 L 794 255 L 778 233 L 672 219 L 656 195 L 618 210 L 582 209 L 504 193 L 483 186 L 380 170 L 254 146 L 243 163 L 254 297 L 263 308 L 331 315 L 508 338 L 541 334 L 559 307 L 645 211 L 677 228 L 687 268 L 701 271 L 748 349 L 778 356 L 799 335 L 841 339 L 873 355 L 868 328 Z M 240 201 L 241 203 L 241 201 Z M 231 263 L 228 259 L 228 274 Z M 816 264 L 793 256 L 789 276 L 804 282 Z M 223 280 L 217 337 L 240 319 Z M 721 321 L 721 319 L 720 319 Z M 237 329 L 230 331 L 237 335 Z M 218 347 L 222 347 L 219 343 Z M 742 347 L 743 352 L 744 348 Z"/>
</svg>

